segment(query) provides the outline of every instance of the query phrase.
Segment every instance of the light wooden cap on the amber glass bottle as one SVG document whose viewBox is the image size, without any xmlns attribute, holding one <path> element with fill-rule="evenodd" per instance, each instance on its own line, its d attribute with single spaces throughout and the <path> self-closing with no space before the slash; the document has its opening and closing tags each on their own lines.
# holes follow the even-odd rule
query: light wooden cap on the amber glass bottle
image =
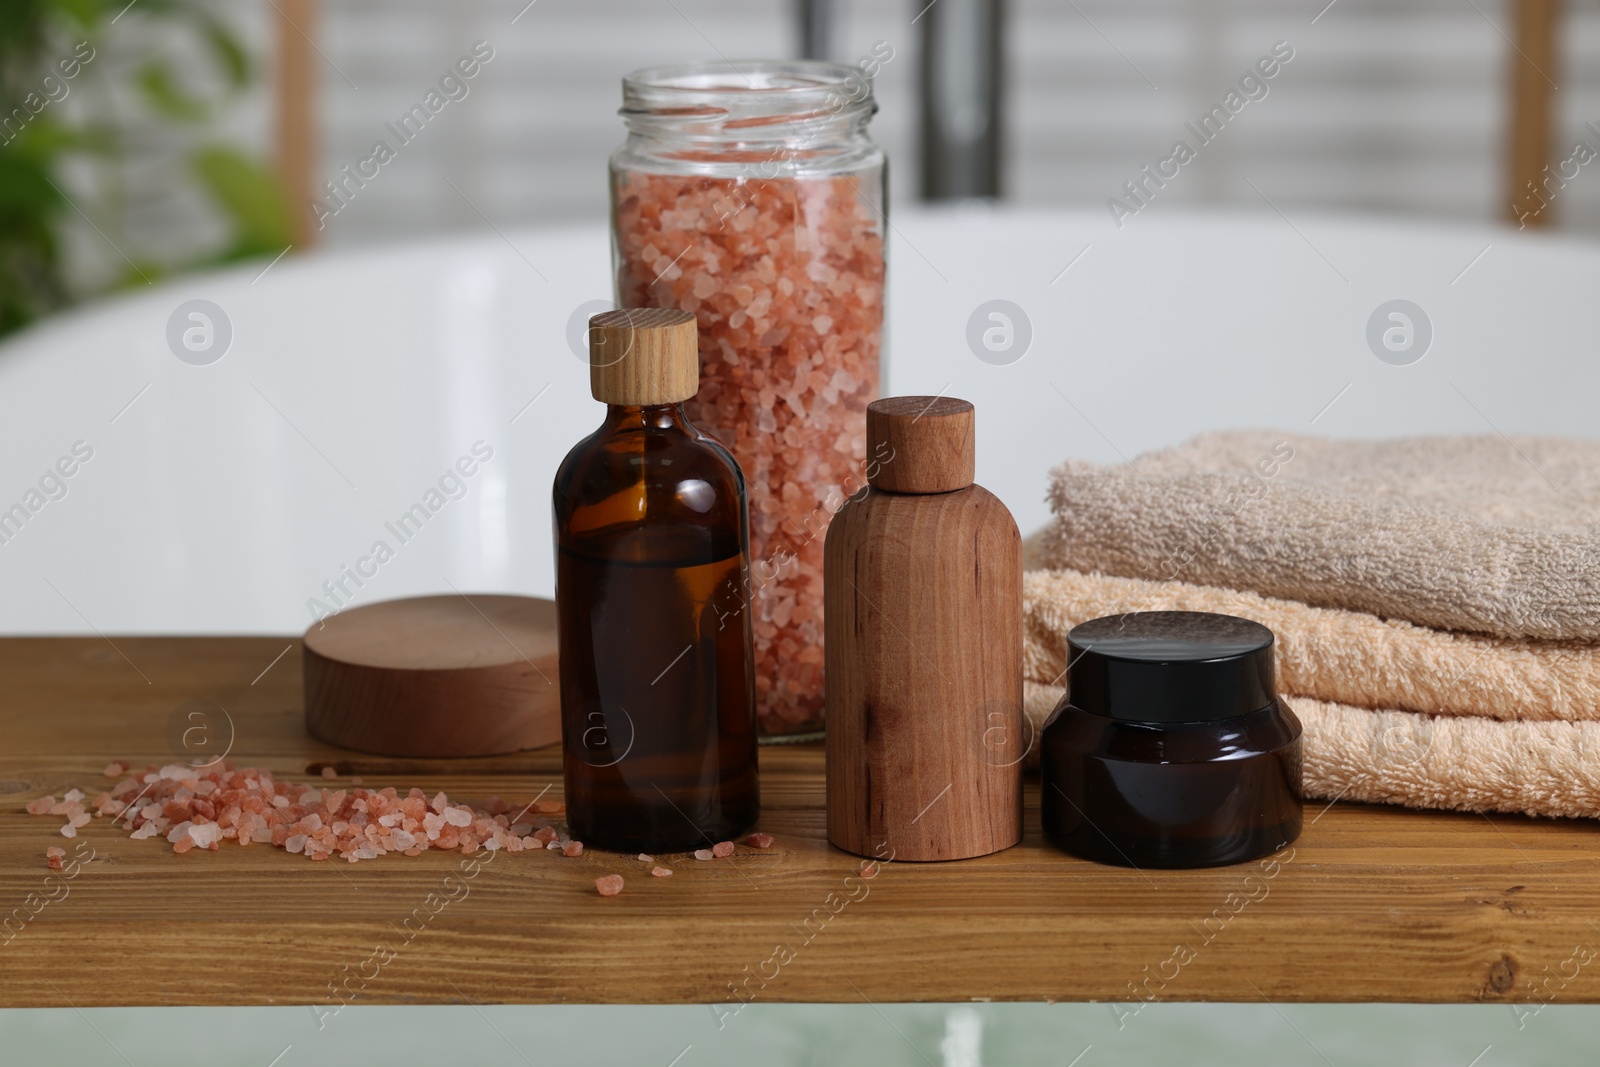
<svg viewBox="0 0 1600 1067">
<path fill-rule="evenodd" d="M 682 403 L 699 392 L 693 312 L 624 307 L 590 318 L 589 390 L 630 408 Z"/>
</svg>

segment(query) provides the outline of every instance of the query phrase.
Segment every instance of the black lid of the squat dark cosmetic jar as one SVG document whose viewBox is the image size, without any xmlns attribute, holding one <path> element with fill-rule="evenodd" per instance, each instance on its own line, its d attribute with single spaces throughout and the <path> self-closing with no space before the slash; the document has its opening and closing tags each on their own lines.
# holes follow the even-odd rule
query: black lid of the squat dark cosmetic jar
<svg viewBox="0 0 1600 1067">
<path fill-rule="evenodd" d="M 1230 614 L 1133 611 L 1067 633 L 1072 704 L 1138 723 L 1198 723 L 1277 697 L 1272 630 Z"/>
</svg>

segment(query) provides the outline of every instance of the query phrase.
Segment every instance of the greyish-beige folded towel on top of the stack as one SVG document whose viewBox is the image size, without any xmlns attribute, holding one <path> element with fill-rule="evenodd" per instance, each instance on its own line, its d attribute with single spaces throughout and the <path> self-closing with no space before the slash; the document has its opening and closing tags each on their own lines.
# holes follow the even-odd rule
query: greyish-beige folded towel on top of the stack
<svg viewBox="0 0 1600 1067">
<path fill-rule="evenodd" d="M 1600 640 L 1600 442 L 1208 434 L 1051 474 L 1048 566 Z"/>
</svg>

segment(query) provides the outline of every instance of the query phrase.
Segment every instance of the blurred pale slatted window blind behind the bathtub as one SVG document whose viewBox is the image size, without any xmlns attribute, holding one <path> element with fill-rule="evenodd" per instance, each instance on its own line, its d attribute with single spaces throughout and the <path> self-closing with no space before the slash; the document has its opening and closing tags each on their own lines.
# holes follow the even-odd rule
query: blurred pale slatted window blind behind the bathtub
<svg viewBox="0 0 1600 1067">
<path fill-rule="evenodd" d="M 1275 42 L 1294 58 L 1208 144 L 1155 208 L 1235 205 L 1498 219 L 1507 0 L 1014 0 L 1006 26 L 1005 184 L 1026 205 L 1104 210 L 1171 152 Z M 838 0 L 835 58 L 888 42 L 874 133 L 894 197 L 915 176 L 922 0 Z M 1318 11 L 1320 16 L 1318 16 Z M 1315 18 L 1315 22 L 1312 21 Z M 1600 150 L 1600 6 L 1563 14 L 1557 158 Z M 387 123 L 483 40 L 494 56 L 410 144 Z M 262 42 L 270 48 L 270 42 Z M 326 219 L 330 245 L 445 227 L 598 219 L 622 139 L 622 74 L 653 62 L 786 56 L 789 0 L 325 0 L 318 32 L 318 181 L 395 158 Z M 450 179 L 446 182 L 445 179 Z M 454 187 L 451 187 L 451 182 Z M 1254 186 L 1254 189 L 1251 187 Z M 1261 194 L 1256 192 L 1261 190 Z M 1557 224 L 1600 229 L 1600 162 L 1558 194 Z"/>
</svg>

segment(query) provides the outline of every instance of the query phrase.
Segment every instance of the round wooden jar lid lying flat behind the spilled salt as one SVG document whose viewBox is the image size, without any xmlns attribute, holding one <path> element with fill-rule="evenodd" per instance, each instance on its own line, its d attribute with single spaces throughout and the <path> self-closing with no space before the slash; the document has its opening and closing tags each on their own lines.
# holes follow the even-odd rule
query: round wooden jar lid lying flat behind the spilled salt
<svg viewBox="0 0 1600 1067">
<path fill-rule="evenodd" d="M 555 603 L 469 593 L 341 611 L 306 632 L 306 728 L 358 752 L 472 757 L 562 737 Z"/>
</svg>

